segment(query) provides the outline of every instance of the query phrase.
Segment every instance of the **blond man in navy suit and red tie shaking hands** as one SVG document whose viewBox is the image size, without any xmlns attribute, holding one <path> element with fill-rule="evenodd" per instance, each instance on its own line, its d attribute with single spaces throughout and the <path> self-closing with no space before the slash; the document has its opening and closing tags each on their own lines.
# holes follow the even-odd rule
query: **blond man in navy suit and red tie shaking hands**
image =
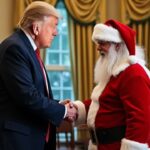
<svg viewBox="0 0 150 150">
<path fill-rule="evenodd" d="M 36 55 L 57 35 L 59 18 L 53 6 L 33 2 L 19 28 L 0 44 L 0 150 L 55 150 L 55 127 L 76 116 L 70 104 L 53 99 Z"/>
</svg>

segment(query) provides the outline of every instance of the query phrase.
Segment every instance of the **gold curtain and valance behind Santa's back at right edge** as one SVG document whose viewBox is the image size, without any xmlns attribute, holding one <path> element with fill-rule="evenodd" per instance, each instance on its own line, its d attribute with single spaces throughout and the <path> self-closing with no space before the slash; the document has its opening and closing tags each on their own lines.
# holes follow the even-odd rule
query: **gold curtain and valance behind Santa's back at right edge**
<svg viewBox="0 0 150 150">
<path fill-rule="evenodd" d="M 145 49 L 150 68 L 150 0 L 121 0 L 121 19 L 136 31 L 137 44 Z"/>
</svg>

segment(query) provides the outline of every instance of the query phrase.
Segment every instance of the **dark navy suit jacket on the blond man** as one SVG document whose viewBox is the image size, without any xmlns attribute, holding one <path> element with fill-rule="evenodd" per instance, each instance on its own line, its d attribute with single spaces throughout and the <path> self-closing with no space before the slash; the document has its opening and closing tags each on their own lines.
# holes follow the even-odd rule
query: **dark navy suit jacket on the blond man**
<svg viewBox="0 0 150 150">
<path fill-rule="evenodd" d="M 0 150 L 55 150 L 55 126 L 65 107 L 53 100 L 33 47 L 20 29 L 0 44 Z M 46 150 L 46 148 L 45 148 Z"/>
</svg>

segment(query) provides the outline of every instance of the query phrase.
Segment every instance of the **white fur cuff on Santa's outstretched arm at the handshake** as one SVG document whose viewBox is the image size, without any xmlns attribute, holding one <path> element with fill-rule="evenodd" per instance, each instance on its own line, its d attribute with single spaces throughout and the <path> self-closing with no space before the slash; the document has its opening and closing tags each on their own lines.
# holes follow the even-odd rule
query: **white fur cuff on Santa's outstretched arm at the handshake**
<svg viewBox="0 0 150 150">
<path fill-rule="evenodd" d="M 74 102 L 74 104 L 78 107 L 78 118 L 75 121 L 75 125 L 78 126 L 86 122 L 86 110 L 84 104 L 81 101 L 77 100 Z"/>
</svg>

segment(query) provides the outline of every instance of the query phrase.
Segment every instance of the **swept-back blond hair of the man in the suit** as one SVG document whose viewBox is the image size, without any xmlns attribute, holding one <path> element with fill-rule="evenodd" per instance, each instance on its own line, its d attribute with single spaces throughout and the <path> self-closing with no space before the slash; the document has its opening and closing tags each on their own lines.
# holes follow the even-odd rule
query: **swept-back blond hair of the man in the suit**
<svg viewBox="0 0 150 150">
<path fill-rule="evenodd" d="M 52 5 L 42 1 L 34 1 L 25 9 L 18 27 L 27 29 L 31 27 L 34 21 L 43 21 L 45 16 L 61 18 L 58 11 Z"/>
</svg>

